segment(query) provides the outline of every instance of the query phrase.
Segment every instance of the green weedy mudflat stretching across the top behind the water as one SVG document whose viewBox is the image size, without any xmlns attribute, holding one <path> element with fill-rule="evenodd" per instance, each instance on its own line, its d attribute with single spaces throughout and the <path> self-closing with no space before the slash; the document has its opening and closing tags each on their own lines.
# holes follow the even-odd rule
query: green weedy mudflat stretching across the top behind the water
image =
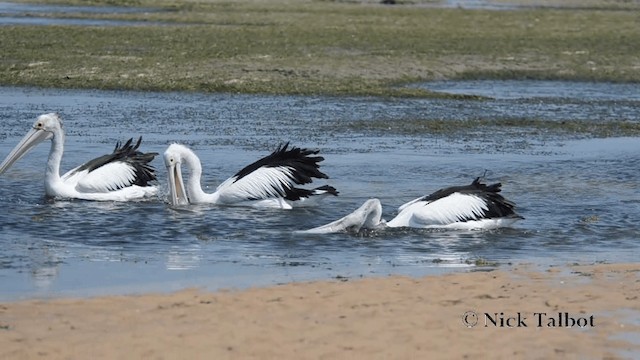
<svg viewBox="0 0 640 360">
<path fill-rule="evenodd" d="M 427 97 L 442 95 L 401 85 L 442 79 L 640 81 L 636 2 L 496 2 L 514 8 L 140 0 L 135 6 L 145 11 L 29 12 L 45 24 L 66 17 L 142 25 L 0 26 L 0 84 Z"/>
</svg>

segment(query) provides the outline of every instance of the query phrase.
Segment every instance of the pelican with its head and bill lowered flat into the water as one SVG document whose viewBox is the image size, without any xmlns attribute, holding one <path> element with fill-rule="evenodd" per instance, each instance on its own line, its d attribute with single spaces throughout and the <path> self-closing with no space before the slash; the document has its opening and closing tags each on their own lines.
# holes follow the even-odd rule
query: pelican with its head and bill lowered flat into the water
<svg viewBox="0 0 640 360">
<path fill-rule="evenodd" d="M 369 199 L 351 214 L 309 230 L 304 234 L 359 232 L 363 229 L 411 227 L 420 229 L 495 229 L 523 219 L 514 211 L 515 204 L 498 194 L 502 184 L 485 185 L 476 178 L 471 185 L 440 189 L 398 208 L 398 215 L 382 220 L 382 205 Z"/>
</svg>

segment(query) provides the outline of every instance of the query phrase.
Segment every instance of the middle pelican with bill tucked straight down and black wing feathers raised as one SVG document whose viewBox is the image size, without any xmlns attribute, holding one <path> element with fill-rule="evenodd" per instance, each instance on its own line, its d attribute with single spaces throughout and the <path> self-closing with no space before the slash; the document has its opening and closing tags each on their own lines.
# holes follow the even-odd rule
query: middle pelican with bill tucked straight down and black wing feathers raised
<svg viewBox="0 0 640 360">
<path fill-rule="evenodd" d="M 332 186 L 315 189 L 295 187 L 311 183 L 313 178 L 327 179 L 318 164 L 324 160 L 318 151 L 279 146 L 273 153 L 240 170 L 207 194 L 202 190 L 202 165 L 196 154 L 184 145 L 171 144 L 164 152 L 169 173 L 169 202 L 172 205 L 220 204 L 291 209 L 316 204 L 328 195 L 337 196 Z M 182 165 L 188 170 L 186 187 Z"/>
</svg>

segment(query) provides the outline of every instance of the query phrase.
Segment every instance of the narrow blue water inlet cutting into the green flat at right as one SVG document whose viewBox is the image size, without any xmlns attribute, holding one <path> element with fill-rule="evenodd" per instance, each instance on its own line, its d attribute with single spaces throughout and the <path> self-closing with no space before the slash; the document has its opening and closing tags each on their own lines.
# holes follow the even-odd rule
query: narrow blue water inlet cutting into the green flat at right
<svg viewBox="0 0 640 360">
<path fill-rule="evenodd" d="M 488 102 L 469 102 L 456 108 L 457 115 L 449 116 L 458 119 L 515 118 L 597 123 L 638 120 L 639 84 L 471 80 L 412 86 L 446 94 L 476 95 L 492 99 Z"/>
</svg>

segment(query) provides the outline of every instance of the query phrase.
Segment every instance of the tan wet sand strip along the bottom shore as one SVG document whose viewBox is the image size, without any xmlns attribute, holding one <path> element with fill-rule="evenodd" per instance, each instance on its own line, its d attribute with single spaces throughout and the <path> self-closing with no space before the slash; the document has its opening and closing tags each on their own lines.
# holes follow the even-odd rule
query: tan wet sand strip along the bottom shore
<svg viewBox="0 0 640 360">
<path fill-rule="evenodd" d="M 0 303 L 3 359 L 616 359 L 639 339 L 640 264 Z"/>
</svg>

